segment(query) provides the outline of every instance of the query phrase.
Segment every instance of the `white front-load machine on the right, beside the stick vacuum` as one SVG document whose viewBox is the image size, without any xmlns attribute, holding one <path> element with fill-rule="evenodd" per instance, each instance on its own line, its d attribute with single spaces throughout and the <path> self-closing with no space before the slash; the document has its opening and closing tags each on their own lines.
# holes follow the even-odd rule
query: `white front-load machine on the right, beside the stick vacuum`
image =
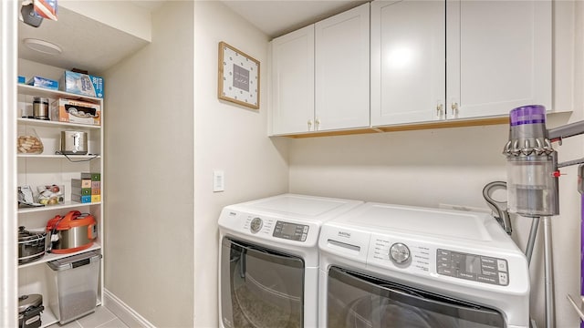
<svg viewBox="0 0 584 328">
<path fill-rule="evenodd" d="M 488 214 L 365 203 L 318 247 L 320 327 L 529 326 L 527 259 Z"/>
</svg>

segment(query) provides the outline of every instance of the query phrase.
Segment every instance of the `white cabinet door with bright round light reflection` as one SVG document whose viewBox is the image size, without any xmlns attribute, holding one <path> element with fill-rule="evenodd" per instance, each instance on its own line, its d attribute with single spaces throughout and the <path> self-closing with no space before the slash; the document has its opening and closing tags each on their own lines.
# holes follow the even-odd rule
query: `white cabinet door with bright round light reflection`
<svg viewBox="0 0 584 328">
<path fill-rule="evenodd" d="M 371 3 L 371 125 L 443 118 L 443 1 Z"/>
</svg>

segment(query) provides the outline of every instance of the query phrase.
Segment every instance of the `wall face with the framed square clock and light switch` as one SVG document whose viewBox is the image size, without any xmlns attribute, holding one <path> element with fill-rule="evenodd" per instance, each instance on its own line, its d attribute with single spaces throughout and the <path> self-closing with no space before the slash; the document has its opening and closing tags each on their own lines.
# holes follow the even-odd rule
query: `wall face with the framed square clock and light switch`
<svg viewBox="0 0 584 328">
<path fill-rule="evenodd" d="M 287 140 L 266 137 L 267 36 L 218 1 L 194 2 L 194 31 L 194 323 L 211 328 L 218 326 L 219 213 L 287 192 Z M 259 60 L 259 110 L 218 100 L 220 41 Z M 224 192 L 212 190 L 214 169 L 224 170 Z"/>
</svg>

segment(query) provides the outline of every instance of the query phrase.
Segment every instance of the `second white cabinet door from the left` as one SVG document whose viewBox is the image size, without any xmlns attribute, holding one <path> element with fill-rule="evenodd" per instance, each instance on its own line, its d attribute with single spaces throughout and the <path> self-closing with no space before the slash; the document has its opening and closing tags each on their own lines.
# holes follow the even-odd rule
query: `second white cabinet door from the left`
<svg viewBox="0 0 584 328">
<path fill-rule="evenodd" d="M 315 129 L 370 125 L 370 5 L 315 24 Z"/>
</svg>

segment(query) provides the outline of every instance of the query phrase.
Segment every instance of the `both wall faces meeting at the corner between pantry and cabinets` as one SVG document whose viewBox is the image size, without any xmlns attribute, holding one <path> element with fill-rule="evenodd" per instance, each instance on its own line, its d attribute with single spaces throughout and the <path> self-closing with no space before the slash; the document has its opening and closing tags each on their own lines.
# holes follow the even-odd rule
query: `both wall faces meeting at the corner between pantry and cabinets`
<svg viewBox="0 0 584 328">
<path fill-rule="evenodd" d="M 266 138 L 267 38 L 215 1 L 152 18 L 151 46 L 104 75 L 106 288 L 156 326 L 216 327 L 220 211 L 288 187 L 287 141 Z M 219 41 L 260 61 L 259 110 L 218 100 Z"/>
</svg>

